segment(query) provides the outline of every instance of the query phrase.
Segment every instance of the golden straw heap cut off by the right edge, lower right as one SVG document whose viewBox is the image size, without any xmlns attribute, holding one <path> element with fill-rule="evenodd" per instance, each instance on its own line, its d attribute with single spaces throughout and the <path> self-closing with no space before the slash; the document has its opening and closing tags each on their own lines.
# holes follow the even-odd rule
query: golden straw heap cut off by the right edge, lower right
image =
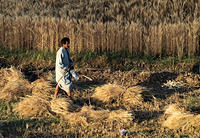
<svg viewBox="0 0 200 138">
<path fill-rule="evenodd" d="M 170 129 L 187 130 L 191 127 L 200 126 L 200 115 L 188 113 L 176 104 L 168 106 L 164 117 L 166 120 L 163 122 L 163 126 Z"/>
</svg>

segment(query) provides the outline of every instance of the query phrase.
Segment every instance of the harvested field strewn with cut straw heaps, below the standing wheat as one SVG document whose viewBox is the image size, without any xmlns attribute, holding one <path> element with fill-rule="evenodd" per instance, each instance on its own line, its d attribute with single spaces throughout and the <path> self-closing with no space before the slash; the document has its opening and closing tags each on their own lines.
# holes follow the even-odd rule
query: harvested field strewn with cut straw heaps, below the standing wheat
<svg viewBox="0 0 200 138">
<path fill-rule="evenodd" d="M 47 60 L 32 53 L 26 59 L 30 53 L 1 51 L 6 57 L 0 70 L 2 136 L 122 137 L 122 129 L 127 131 L 123 137 L 200 136 L 194 59 L 72 54 L 80 80 L 74 81 L 71 101 L 63 91 L 53 99 L 54 56 Z"/>
</svg>

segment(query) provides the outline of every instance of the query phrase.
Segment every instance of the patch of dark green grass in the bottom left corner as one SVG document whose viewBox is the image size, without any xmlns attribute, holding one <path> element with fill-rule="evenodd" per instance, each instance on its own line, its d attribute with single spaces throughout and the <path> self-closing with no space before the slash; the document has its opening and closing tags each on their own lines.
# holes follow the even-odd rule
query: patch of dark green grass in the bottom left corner
<svg viewBox="0 0 200 138">
<path fill-rule="evenodd" d="M 12 101 L 11 106 L 16 101 Z M 12 111 L 8 111 L 8 106 L 4 101 L 0 101 L 0 133 L 8 137 L 47 137 L 52 136 L 51 134 L 36 133 L 38 130 L 51 127 L 52 124 L 58 125 L 60 123 L 59 118 L 24 118 L 20 119 L 16 115 L 12 114 Z"/>
</svg>

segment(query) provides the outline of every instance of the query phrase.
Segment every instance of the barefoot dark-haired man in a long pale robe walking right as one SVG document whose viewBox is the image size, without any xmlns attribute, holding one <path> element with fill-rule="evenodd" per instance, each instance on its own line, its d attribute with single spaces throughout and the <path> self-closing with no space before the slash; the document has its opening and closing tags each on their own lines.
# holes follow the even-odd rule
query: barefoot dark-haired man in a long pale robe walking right
<svg viewBox="0 0 200 138">
<path fill-rule="evenodd" d="M 69 97 L 71 97 L 72 75 L 70 70 L 73 69 L 73 61 L 70 58 L 68 49 L 70 47 L 70 39 L 64 37 L 61 40 L 61 48 L 56 53 L 56 89 L 54 98 L 56 98 L 59 88 L 63 89 Z"/>
</svg>

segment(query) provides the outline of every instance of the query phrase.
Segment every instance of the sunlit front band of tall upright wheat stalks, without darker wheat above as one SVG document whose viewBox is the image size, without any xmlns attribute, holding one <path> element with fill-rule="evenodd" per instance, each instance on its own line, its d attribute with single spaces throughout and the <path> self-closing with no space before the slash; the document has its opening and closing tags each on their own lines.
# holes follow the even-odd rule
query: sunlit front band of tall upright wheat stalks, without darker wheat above
<svg viewBox="0 0 200 138">
<path fill-rule="evenodd" d="M 195 56 L 199 54 L 200 25 L 138 23 L 84 23 L 53 17 L 0 16 L 0 45 L 27 50 L 55 51 L 64 36 L 71 38 L 71 51 L 118 52 L 132 55 Z"/>
</svg>

